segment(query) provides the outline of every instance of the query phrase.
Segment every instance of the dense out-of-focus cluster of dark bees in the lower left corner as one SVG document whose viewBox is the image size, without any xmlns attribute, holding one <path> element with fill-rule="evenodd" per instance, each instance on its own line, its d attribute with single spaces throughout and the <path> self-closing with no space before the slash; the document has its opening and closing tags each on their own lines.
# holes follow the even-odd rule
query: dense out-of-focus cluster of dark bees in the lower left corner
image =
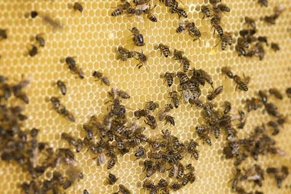
<svg viewBox="0 0 291 194">
<path fill-rule="evenodd" d="M 37 140 L 39 129 L 23 129 L 23 121 L 27 116 L 21 105 L 11 105 L 12 95 L 25 104 L 29 99 L 25 88 L 30 84 L 30 79 L 24 79 L 16 84 L 9 84 L 7 77 L 0 76 L 0 152 L 1 160 L 15 161 L 23 170 L 28 171 L 32 180 L 20 185 L 25 194 L 44 194 L 52 191 L 54 194 L 62 193 L 71 187 L 76 180 L 83 179 L 83 174 L 76 168 L 77 162 L 74 153 L 68 148 L 57 148 L 56 151 L 48 143 Z M 10 104 L 10 106 L 8 106 Z M 68 138 L 62 134 L 62 138 Z M 54 171 L 51 179 L 41 180 L 48 168 L 57 168 L 61 164 L 72 166 L 63 174 Z M 74 166 L 74 167 L 73 167 Z M 88 194 L 88 193 L 84 193 Z"/>
</svg>

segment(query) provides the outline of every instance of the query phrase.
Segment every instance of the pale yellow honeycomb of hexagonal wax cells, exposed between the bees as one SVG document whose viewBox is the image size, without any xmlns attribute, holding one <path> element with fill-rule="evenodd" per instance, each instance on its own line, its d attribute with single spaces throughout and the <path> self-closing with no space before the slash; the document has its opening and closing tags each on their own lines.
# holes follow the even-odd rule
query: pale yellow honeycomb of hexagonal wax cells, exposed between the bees
<svg viewBox="0 0 291 194">
<path fill-rule="evenodd" d="M 102 115 L 106 112 L 104 102 L 108 100 L 107 91 L 111 87 L 104 84 L 100 85 L 91 77 L 94 70 L 100 70 L 111 81 L 111 86 L 116 86 L 128 92 L 131 96 L 129 100 L 124 101 L 127 107 L 132 110 L 141 109 L 145 106 L 146 100 L 158 102 L 163 107 L 168 102 L 167 87 L 163 84 L 163 74 L 166 71 L 178 71 L 179 64 L 172 62 L 169 58 L 160 56 L 159 51 L 154 47 L 159 43 L 169 45 L 171 49 L 179 49 L 185 52 L 185 55 L 193 63 L 191 68 L 203 68 L 210 73 L 213 78 L 214 87 L 224 85 L 224 92 L 215 98 L 217 106 L 222 106 L 225 100 L 233 105 L 232 112 L 243 109 L 242 100 L 253 97 L 258 90 L 266 90 L 271 87 L 278 88 L 282 93 L 291 82 L 291 72 L 288 70 L 291 62 L 291 38 L 290 20 L 291 1 L 290 0 L 269 0 L 268 7 L 261 7 L 257 0 L 223 0 L 231 9 L 230 13 L 223 15 L 223 26 L 225 32 L 233 32 L 235 39 L 238 38 L 238 32 L 245 24 L 242 20 L 244 16 L 256 18 L 258 35 L 267 36 L 270 42 L 276 42 L 280 50 L 274 52 L 266 49 L 265 58 L 259 61 L 258 58 L 238 57 L 234 47 L 227 47 L 222 51 L 220 47 L 214 47 L 218 39 L 213 38 L 210 32 L 210 21 L 201 20 L 203 17 L 199 7 L 208 3 L 208 0 L 182 0 L 186 5 L 188 19 L 193 20 L 201 32 L 207 32 L 207 35 L 198 41 L 188 35 L 176 33 L 178 27 L 178 16 L 170 14 L 165 6 L 159 1 L 155 8 L 157 23 L 145 20 L 145 23 L 139 22 L 134 17 L 110 16 L 113 7 L 116 7 L 120 1 L 96 1 L 84 0 L 84 10 L 82 14 L 68 9 L 68 3 L 74 3 L 71 0 L 0 0 L 0 22 L 2 29 L 8 29 L 7 40 L 0 42 L 0 74 L 7 75 L 10 80 L 19 80 L 21 74 L 31 77 L 32 83 L 27 89 L 30 104 L 26 106 L 26 114 L 29 119 L 25 122 L 25 128 L 36 127 L 41 129 L 38 137 L 39 141 L 49 142 L 54 147 L 65 147 L 66 142 L 60 140 L 62 132 L 71 132 L 74 137 L 84 137 L 81 131 L 81 125 L 88 121 L 92 114 Z M 275 25 L 268 25 L 259 18 L 264 15 L 273 14 L 275 6 L 283 4 L 284 12 L 276 20 Z M 41 17 L 26 18 L 25 13 L 32 10 L 38 11 L 42 15 L 48 15 L 58 20 L 64 28 L 53 28 L 47 24 Z M 146 71 L 144 67 L 138 70 L 136 60 L 122 62 L 116 59 L 116 50 L 118 46 L 123 46 L 129 50 L 133 48 L 129 37 L 131 34 L 128 28 L 132 26 L 141 29 L 144 34 L 146 46 L 143 47 L 145 54 L 149 54 L 149 60 Z M 40 49 L 35 57 L 27 56 L 27 47 L 32 44 L 31 37 L 38 33 L 45 33 L 46 46 Z M 66 56 L 76 56 L 78 64 L 85 71 L 85 79 L 75 79 L 75 76 L 69 72 L 67 66 L 60 62 Z M 232 81 L 225 79 L 218 70 L 222 66 L 231 67 L 233 73 L 242 76 L 251 76 L 249 91 L 246 93 L 234 92 Z M 180 69 L 181 70 L 181 69 Z M 61 101 L 71 110 L 76 117 L 75 123 L 70 123 L 56 112 L 51 110 L 47 97 L 60 96 L 54 81 L 61 79 L 67 84 L 67 94 L 61 98 Z M 173 90 L 178 89 L 178 80 L 175 79 Z M 211 87 L 206 84 L 202 90 L 202 100 Z M 271 98 L 279 106 L 280 113 L 289 114 L 291 109 L 290 99 L 284 96 L 282 101 Z M 202 122 L 200 110 L 188 106 L 180 106 L 174 109 L 171 115 L 176 118 L 176 127 L 167 127 L 173 135 L 179 137 L 182 141 L 187 139 L 197 139 L 195 125 Z M 133 112 L 129 112 L 129 118 L 133 118 Z M 247 123 L 244 129 L 239 131 L 239 137 L 246 137 L 257 125 L 267 122 L 271 118 L 263 114 L 262 110 L 250 112 L 247 115 Z M 139 120 L 142 124 L 142 119 Z M 144 124 L 143 124 L 144 125 Z M 159 123 L 159 129 L 162 129 L 162 122 Z M 288 130 L 290 124 L 285 125 L 285 129 L 275 136 L 276 146 L 286 151 L 285 157 L 274 157 L 272 155 L 259 156 L 256 162 L 261 167 L 280 166 L 290 164 L 291 150 L 289 147 L 291 131 Z M 160 130 L 146 130 L 146 135 L 155 136 L 160 134 Z M 225 146 L 226 135 L 222 134 L 217 140 L 212 138 L 212 146 L 202 145 L 198 149 L 200 158 L 198 161 L 188 160 L 193 163 L 199 177 L 194 184 L 178 190 L 177 194 L 186 194 L 195 192 L 196 194 L 229 194 L 231 193 L 231 183 L 228 182 L 232 175 L 233 160 L 226 160 L 222 154 Z M 202 144 L 202 141 L 199 141 Z M 79 165 L 84 173 L 84 180 L 74 184 L 68 193 L 81 193 L 87 189 L 90 194 L 113 193 L 118 190 L 118 184 L 122 183 L 130 188 L 134 194 L 145 193 L 142 189 L 142 181 L 145 174 L 142 173 L 143 164 L 141 161 L 134 162 L 134 154 L 129 153 L 118 158 L 118 164 L 111 173 L 115 174 L 119 180 L 117 184 L 108 186 L 104 184 L 105 177 L 108 176 L 107 169 L 97 166 L 96 161 L 92 160 L 89 152 L 80 152 L 76 154 Z M 254 164 L 252 158 L 247 158 L 241 167 L 249 167 Z M 290 165 L 289 165 L 290 166 Z M 27 181 L 27 172 L 15 165 L 14 162 L 0 162 L 0 191 L 1 193 L 20 193 L 19 183 Z M 156 179 L 160 179 L 161 174 L 156 174 Z M 263 187 L 256 190 L 265 194 L 290 193 L 285 185 L 290 183 L 289 176 L 283 182 L 283 187 L 278 190 L 274 178 L 266 175 L 263 181 Z M 247 191 L 254 191 L 253 185 L 243 183 Z M 175 193 L 175 192 L 173 192 Z"/>
</svg>

